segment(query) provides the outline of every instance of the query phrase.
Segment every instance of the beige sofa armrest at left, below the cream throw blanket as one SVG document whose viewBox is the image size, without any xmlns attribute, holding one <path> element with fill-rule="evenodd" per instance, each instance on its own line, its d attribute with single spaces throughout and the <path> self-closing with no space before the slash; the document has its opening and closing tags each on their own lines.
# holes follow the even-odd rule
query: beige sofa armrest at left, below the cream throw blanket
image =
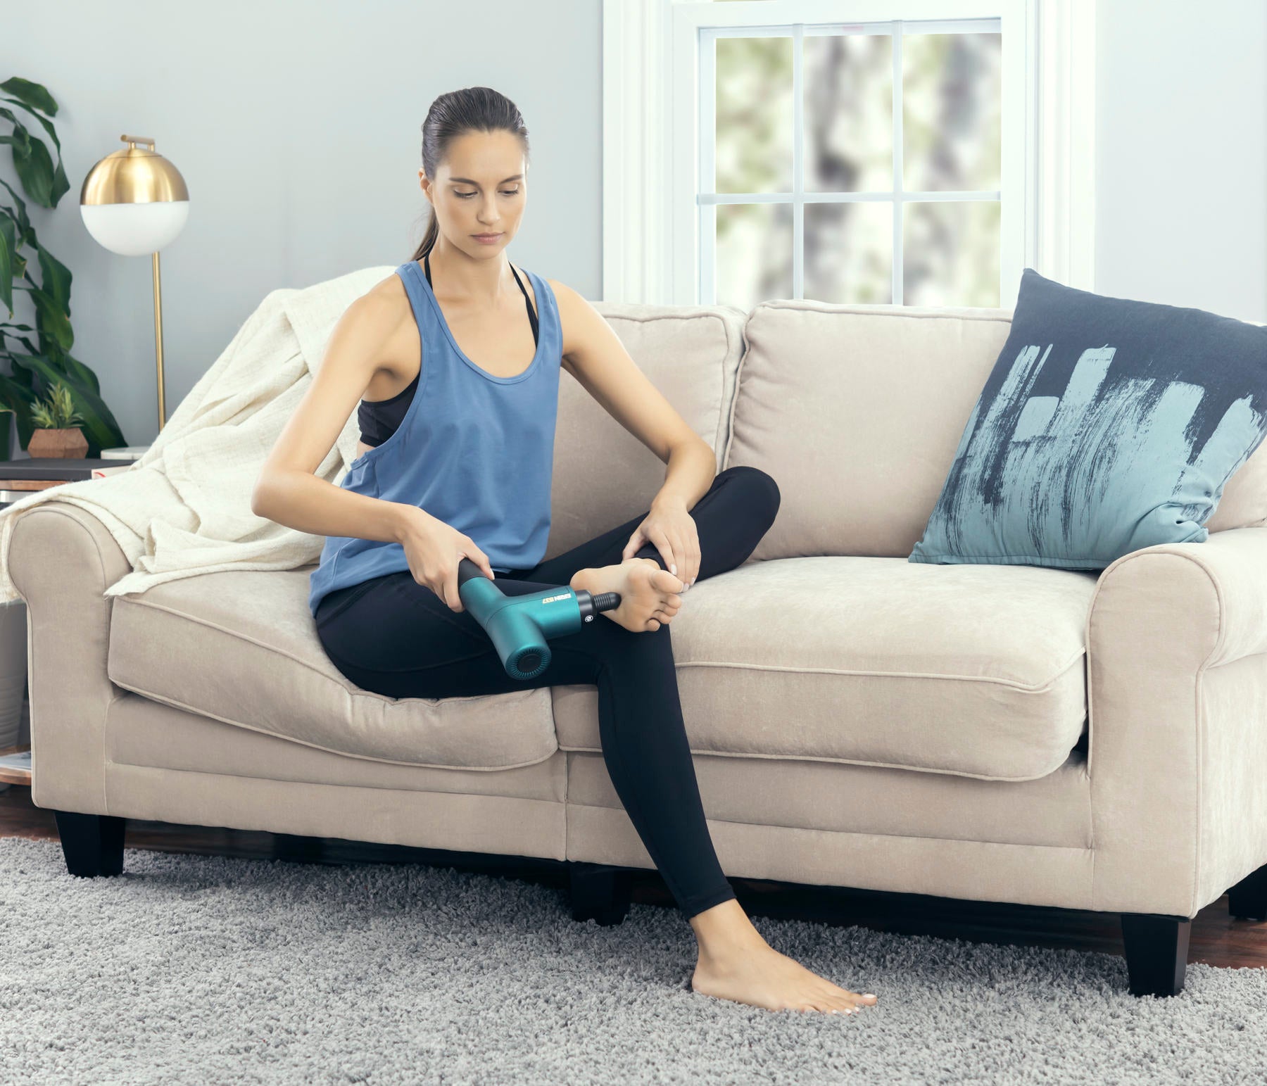
<svg viewBox="0 0 1267 1086">
<path fill-rule="evenodd" d="M 120 691 L 106 675 L 113 599 L 132 570 L 105 525 L 52 498 L 18 514 L 9 577 L 27 603 L 32 802 L 108 815 L 105 715 Z"/>
</svg>

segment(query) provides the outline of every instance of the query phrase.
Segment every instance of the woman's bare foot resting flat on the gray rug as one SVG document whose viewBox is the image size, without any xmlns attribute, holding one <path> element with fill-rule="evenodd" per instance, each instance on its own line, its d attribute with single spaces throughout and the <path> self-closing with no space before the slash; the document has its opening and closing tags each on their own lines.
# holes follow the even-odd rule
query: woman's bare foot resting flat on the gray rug
<svg viewBox="0 0 1267 1086">
<path fill-rule="evenodd" d="M 853 1014 L 874 1006 L 859 995 L 811 972 L 780 954 L 753 928 L 737 901 L 723 901 L 691 917 L 699 939 L 699 959 L 691 977 L 693 991 L 767 1010 Z"/>
</svg>

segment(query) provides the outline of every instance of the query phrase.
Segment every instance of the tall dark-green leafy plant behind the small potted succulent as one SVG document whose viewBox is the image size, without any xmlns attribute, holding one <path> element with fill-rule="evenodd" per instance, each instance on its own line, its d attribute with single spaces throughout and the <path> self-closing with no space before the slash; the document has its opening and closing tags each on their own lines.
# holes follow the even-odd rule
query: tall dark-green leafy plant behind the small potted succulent
<svg viewBox="0 0 1267 1086">
<path fill-rule="evenodd" d="M 62 167 L 62 144 L 51 119 L 57 115 L 57 103 L 43 86 L 19 76 L 0 82 L 0 94 L 8 105 L 34 117 L 57 148 L 54 165 L 48 146 L 22 124 L 13 109 L 0 108 L 0 118 L 13 124 L 13 133 L 0 141 L 9 144 L 23 191 L 39 207 L 56 208 L 70 189 Z M 123 431 L 101 399 L 96 374 L 71 355 L 75 343 L 70 319 L 71 271 L 39 243 L 27 205 L 13 186 L 3 177 L 0 185 L 13 196 L 13 207 L 9 207 L 0 193 L 0 317 L 4 310 L 9 312 L 9 321 L 0 321 L 0 362 L 9 362 L 9 373 L 0 373 L 0 459 L 9 456 L 10 419 L 18 427 L 18 446 L 28 449 L 38 425 L 32 407 L 56 384 L 65 386 L 65 394 L 80 414 L 80 440 L 86 441 L 86 450 L 32 455 L 99 456 L 103 449 L 127 445 Z M 37 270 L 38 281 L 32 275 Z M 13 321 L 14 291 L 27 293 L 34 324 Z"/>
</svg>

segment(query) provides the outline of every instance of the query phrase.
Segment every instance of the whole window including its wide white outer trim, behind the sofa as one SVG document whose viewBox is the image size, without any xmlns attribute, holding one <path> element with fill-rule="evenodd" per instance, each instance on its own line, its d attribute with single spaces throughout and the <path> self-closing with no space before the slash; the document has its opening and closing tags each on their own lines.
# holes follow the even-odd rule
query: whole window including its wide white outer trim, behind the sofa
<svg viewBox="0 0 1267 1086">
<path fill-rule="evenodd" d="M 1043 9 L 609 0 L 604 298 L 1010 308 L 1026 266 L 1093 289 L 1095 13 Z"/>
</svg>

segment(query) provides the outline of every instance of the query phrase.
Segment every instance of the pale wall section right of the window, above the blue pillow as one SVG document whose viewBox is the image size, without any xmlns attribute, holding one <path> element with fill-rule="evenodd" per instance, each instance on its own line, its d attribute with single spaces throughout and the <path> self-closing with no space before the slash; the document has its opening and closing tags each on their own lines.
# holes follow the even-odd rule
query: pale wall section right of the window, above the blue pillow
<svg viewBox="0 0 1267 1086">
<path fill-rule="evenodd" d="M 1096 15 L 1096 293 L 1267 322 L 1267 4 Z"/>
</svg>

